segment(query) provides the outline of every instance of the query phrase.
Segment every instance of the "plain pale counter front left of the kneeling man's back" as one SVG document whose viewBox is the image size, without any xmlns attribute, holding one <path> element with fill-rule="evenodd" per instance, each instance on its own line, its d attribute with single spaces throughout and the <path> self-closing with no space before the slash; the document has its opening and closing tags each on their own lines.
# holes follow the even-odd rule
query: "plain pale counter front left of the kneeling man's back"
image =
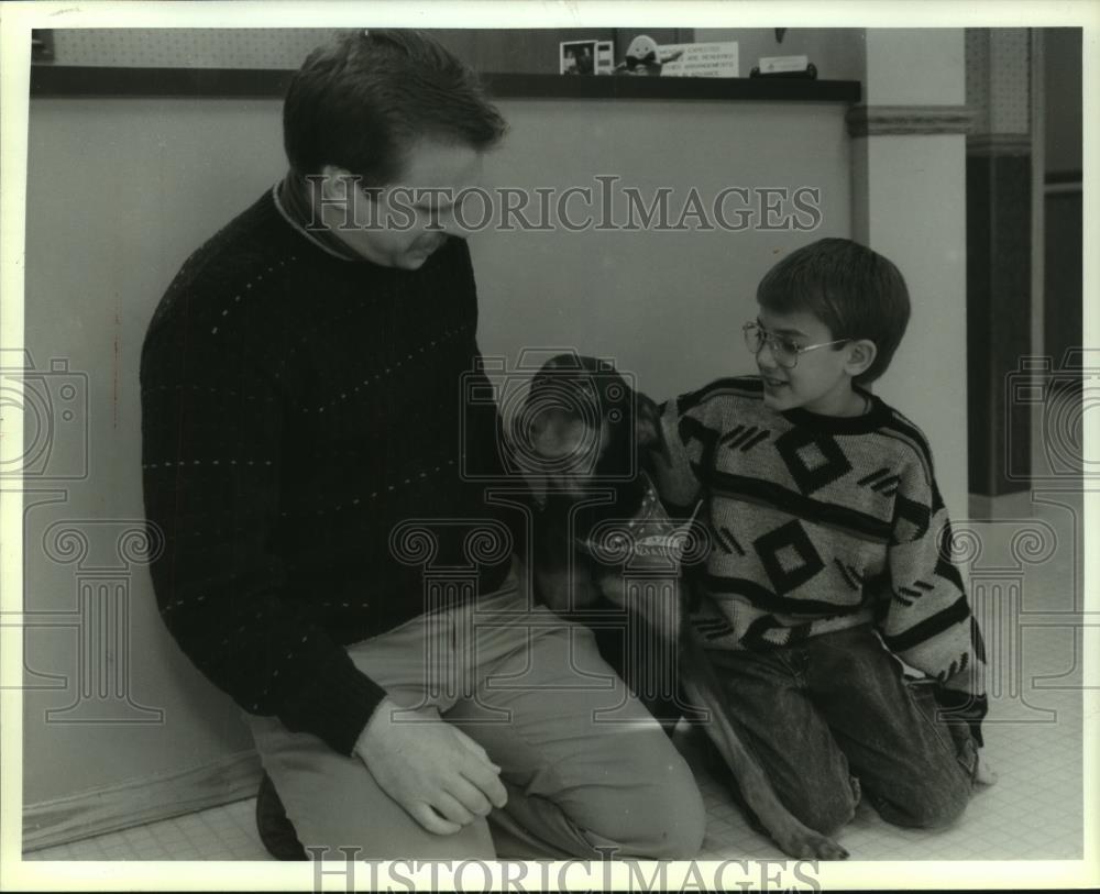
<svg viewBox="0 0 1100 894">
<path fill-rule="evenodd" d="M 165 631 L 145 569 L 136 565 L 129 576 L 95 569 L 123 564 L 116 542 L 143 517 L 138 364 L 153 308 L 190 251 L 282 170 L 277 106 L 103 99 L 31 104 L 25 344 L 37 367 L 65 358 L 70 371 L 87 375 L 89 470 L 86 481 L 65 484 L 64 501 L 26 511 L 26 608 L 73 611 L 82 577 L 128 583 L 129 656 L 112 653 L 109 661 L 112 667 L 129 661 L 133 700 L 163 709 L 164 720 L 47 722 L 46 710 L 75 698 L 78 641 L 69 629 L 31 629 L 29 684 L 48 683 L 41 678 L 46 674 L 70 683 L 26 693 L 26 803 L 251 747 L 235 707 L 206 684 Z M 75 449 L 72 435 L 64 443 Z M 101 523 L 111 520 L 118 523 Z M 62 522 L 89 539 L 82 567 L 46 553 L 43 538 Z M 119 713 L 123 720 L 135 716 Z"/>
</svg>

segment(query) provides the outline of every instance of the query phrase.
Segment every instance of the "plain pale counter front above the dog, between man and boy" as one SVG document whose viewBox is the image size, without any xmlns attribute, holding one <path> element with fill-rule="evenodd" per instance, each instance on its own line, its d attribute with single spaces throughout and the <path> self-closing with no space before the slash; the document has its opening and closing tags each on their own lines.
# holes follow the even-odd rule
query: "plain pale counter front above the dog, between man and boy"
<svg viewBox="0 0 1100 894">
<path fill-rule="evenodd" d="M 843 106 L 502 104 L 513 130 L 491 164 L 496 184 L 565 188 L 618 175 L 644 190 L 670 187 L 672 208 L 692 187 L 710 198 L 727 186 L 805 185 L 821 189 L 823 219 L 801 233 L 477 234 L 471 250 L 487 354 L 542 344 L 609 355 L 656 397 L 751 372 L 740 325 L 756 313 L 760 277 L 780 252 L 849 235 Z"/>
</svg>

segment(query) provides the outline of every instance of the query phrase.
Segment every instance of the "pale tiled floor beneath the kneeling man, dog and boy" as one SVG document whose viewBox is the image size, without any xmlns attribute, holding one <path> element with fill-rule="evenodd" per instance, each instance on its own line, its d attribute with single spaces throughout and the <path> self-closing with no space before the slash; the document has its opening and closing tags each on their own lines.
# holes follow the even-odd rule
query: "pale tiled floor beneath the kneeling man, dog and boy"
<svg viewBox="0 0 1100 894">
<path fill-rule="evenodd" d="M 939 832 L 899 829 L 860 806 L 840 842 L 857 860 L 1080 859 L 1082 856 L 1082 691 L 1075 666 L 1072 612 L 1081 560 L 1080 497 L 1036 504 L 1040 525 L 956 521 L 972 531 L 982 552 L 969 569 L 983 582 L 991 610 L 980 616 L 992 663 L 986 754 L 1000 782 L 975 796 L 963 820 Z M 1044 527 L 1045 525 L 1045 527 Z M 1077 526 L 1075 528 L 1075 525 Z M 1021 531 L 1054 542 L 1045 553 L 1018 549 Z M 1016 553 L 1020 556 L 1016 558 Z M 1038 558 L 1036 558 L 1038 556 Z M 1003 598 L 1015 586 L 1019 598 Z M 997 587 L 1000 587 L 999 589 Z M 1005 615 L 1016 606 L 1018 615 Z M 977 610 L 977 609 L 976 609 Z M 1001 632 L 998 632 L 1001 631 Z M 1015 636 L 1013 636 L 1015 633 Z M 1094 699 L 1094 693 L 1090 697 Z M 752 831 L 721 785 L 700 766 L 690 739 L 685 753 L 698 771 L 710 823 L 703 857 L 781 858 Z M 29 860 L 265 860 L 253 801 L 28 853 Z"/>
</svg>

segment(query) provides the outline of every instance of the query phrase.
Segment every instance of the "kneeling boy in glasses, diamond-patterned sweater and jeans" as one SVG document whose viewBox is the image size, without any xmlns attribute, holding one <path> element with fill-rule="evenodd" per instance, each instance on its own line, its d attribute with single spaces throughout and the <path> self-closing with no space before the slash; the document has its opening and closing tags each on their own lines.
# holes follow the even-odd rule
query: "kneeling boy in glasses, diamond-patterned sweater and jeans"
<svg viewBox="0 0 1100 894">
<path fill-rule="evenodd" d="M 662 412 L 661 496 L 702 499 L 712 537 L 697 630 L 800 820 L 833 835 L 862 792 L 890 823 L 947 825 L 976 777 L 992 781 L 977 752 L 985 653 L 928 444 L 865 388 L 905 331 L 905 283 L 871 250 L 824 239 L 779 262 L 757 300 L 744 336 L 759 377 Z M 899 659 L 928 685 L 906 685 Z"/>
</svg>

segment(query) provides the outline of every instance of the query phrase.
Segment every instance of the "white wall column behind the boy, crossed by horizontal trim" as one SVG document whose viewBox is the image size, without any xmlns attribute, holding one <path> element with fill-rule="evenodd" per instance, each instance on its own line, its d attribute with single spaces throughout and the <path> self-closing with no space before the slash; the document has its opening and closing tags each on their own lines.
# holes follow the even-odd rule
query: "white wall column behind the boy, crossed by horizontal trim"
<svg viewBox="0 0 1100 894">
<path fill-rule="evenodd" d="M 961 106 L 961 29 L 868 29 L 865 102 Z M 920 73 L 920 76 L 914 75 Z M 853 144 L 854 234 L 905 276 L 913 313 L 876 390 L 920 426 L 955 520 L 967 508 L 966 137 L 871 135 Z"/>
</svg>

